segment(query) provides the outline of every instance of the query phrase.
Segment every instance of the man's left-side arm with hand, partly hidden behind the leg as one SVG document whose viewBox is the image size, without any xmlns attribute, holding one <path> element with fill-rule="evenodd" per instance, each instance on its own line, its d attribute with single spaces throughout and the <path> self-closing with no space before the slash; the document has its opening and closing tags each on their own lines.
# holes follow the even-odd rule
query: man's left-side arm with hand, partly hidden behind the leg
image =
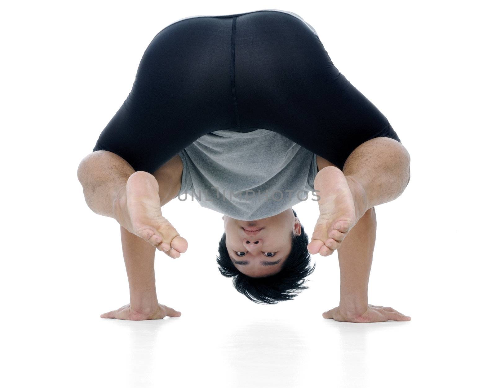
<svg viewBox="0 0 496 388">
<path fill-rule="evenodd" d="M 153 173 L 159 184 L 161 206 L 178 195 L 182 172 L 183 163 L 179 155 L 176 155 Z M 122 226 L 121 241 L 130 303 L 119 310 L 102 314 L 102 318 L 144 320 L 181 316 L 181 312 L 158 303 L 154 265 L 156 248 Z"/>
</svg>

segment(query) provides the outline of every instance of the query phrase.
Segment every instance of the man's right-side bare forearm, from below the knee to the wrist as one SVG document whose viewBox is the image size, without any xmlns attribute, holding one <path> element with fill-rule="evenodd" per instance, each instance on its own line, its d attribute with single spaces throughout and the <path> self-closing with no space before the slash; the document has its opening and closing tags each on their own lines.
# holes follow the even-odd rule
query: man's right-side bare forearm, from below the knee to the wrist
<svg viewBox="0 0 496 388">
<path fill-rule="evenodd" d="M 341 273 L 340 307 L 347 312 L 365 311 L 375 244 L 376 218 L 372 207 L 365 212 L 338 249 Z"/>
</svg>

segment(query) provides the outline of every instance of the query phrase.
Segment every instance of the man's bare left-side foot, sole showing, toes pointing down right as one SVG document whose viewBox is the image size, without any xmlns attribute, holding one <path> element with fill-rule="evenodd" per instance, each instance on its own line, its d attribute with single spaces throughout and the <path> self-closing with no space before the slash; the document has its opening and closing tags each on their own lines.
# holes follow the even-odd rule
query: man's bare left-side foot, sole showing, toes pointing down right
<svg viewBox="0 0 496 388">
<path fill-rule="evenodd" d="M 114 200 L 114 218 L 130 233 L 172 258 L 186 252 L 186 240 L 162 216 L 157 180 L 145 171 L 136 171 L 128 178 Z"/>
</svg>

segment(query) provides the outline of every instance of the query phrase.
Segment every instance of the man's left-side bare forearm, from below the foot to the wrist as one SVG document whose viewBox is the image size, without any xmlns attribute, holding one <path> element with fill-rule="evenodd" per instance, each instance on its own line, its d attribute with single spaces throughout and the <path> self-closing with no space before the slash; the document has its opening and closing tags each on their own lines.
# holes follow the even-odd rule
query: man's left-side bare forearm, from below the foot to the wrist
<svg viewBox="0 0 496 388">
<path fill-rule="evenodd" d="M 155 289 L 156 248 L 122 226 L 121 241 L 131 306 L 141 312 L 156 308 L 158 303 Z"/>
</svg>

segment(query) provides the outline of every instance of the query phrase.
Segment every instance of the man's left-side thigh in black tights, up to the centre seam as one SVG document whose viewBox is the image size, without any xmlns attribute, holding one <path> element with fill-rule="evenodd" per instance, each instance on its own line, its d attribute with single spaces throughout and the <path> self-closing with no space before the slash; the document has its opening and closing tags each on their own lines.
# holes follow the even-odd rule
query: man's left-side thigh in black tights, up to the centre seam
<svg viewBox="0 0 496 388">
<path fill-rule="evenodd" d="M 93 151 L 109 150 L 153 173 L 206 133 L 235 126 L 228 19 L 167 26 L 150 42 L 132 89 Z"/>
</svg>

